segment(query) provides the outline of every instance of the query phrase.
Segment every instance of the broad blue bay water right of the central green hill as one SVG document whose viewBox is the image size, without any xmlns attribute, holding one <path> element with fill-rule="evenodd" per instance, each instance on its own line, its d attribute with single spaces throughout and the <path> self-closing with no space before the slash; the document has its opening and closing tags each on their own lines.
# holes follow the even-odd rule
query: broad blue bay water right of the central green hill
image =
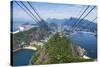
<svg viewBox="0 0 100 67">
<path fill-rule="evenodd" d="M 78 32 L 69 36 L 73 43 L 84 48 L 87 56 L 97 58 L 97 38 L 88 32 Z"/>
</svg>

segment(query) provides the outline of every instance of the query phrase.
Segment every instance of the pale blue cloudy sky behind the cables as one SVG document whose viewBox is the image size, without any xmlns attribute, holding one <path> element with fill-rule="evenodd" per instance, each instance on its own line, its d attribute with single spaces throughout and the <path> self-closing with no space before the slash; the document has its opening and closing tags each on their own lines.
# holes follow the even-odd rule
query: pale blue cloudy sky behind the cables
<svg viewBox="0 0 100 67">
<path fill-rule="evenodd" d="M 19 3 L 19 2 L 18 2 Z M 24 2 L 29 9 L 29 5 Z M 31 4 L 35 7 L 37 12 L 40 16 L 46 20 L 47 18 L 57 18 L 57 19 L 64 19 L 70 17 L 79 17 L 82 12 L 87 6 L 86 5 L 72 5 L 72 4 L 51 4 L 51 3 L 38 3 L 38 2 L 31 2 Z M 23 5 L 22 5 L 23 6 Z M 90 6 L 88 11 L 93 6 Z M 32 9 L 31 9 L 32 10 Z M 88 12 L 87 11 L 87 12 Z M 32 11 L 34 13 L 34 11 Z M 34 13 L 35 14 L 35 13 Z M 87 20 L 93 20 L 97 16 L 97 8 L 95 8 L 88 16 Z M 22 22 L 31 22 L 32 18 L 28 16 L 22 8 L 20 8 L 15 2 L 13 3 L 13 20 L 14 21 L 22 21 Z"/>
</svg>

